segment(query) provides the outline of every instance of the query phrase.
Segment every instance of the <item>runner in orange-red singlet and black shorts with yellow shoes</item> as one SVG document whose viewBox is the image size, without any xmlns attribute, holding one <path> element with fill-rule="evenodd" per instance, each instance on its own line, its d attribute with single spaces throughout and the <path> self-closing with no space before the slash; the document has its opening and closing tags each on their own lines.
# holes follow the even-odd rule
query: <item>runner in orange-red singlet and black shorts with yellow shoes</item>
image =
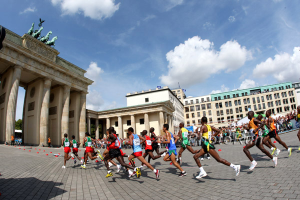
<svg viewBox="0 0 300 200">
<path fill-rule="evenodd" d="M 279 142 L 279 144 L 281 144 L 288 152 L 288 156 L 290 156 L 291 154 L 291 148 L 288 148 L 287 145 L 285 144 L 284 141 L 282 141 L 279 137 L 279 135 L 276 133 L 276 127 L 274 125 L 274 120 L 273 118 L 271 117 L 271 110 L 268 109 L 266 110 L 265 112 L 265 117 L 267 117 L 267 123 L 265 124 L 266 127 L 268 129 L 270 129 L 270 131 L 267 133 L 267 135 L 263 138 L 262 142 L 264 143 L 266 140 L 268 140 L 269 138 L 272 138 L 274 137 L 274 139 L 276 141 Z"/>
</svg>

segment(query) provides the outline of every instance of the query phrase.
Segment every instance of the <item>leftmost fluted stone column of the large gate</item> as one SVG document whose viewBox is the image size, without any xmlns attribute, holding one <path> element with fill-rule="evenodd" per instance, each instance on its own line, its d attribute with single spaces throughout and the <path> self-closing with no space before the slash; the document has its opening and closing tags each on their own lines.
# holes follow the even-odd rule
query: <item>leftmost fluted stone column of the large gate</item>
<svg viewBox="0 0 300 200">
<path fill-rule="evenodd" d="M 5 141 L 11 141 L 11 135 L 14 135 L 14 125 L 15 125 L 15 109 L 16 109 L 16 99 L 18 86 L 20 82 L 22 67 L 14 66 L 13 75 L 11 80 L 11 89 L 8 96 L 7 102 L 7 112 L 6 112 L 6 133 Z"/>
</svg>

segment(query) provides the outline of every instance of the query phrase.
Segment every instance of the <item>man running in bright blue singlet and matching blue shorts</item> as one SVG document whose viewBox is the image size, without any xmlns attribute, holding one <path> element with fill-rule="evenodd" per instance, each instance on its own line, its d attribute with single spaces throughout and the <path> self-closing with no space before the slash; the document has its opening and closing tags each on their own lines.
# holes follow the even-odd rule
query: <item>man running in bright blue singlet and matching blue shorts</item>
<svg viewBox="0 0 300 200">
<path fill-rule="evenodd" d="M 165 141 L 158 141 L 159 143 L 166 143 L 168 148 L 168 153 L 163 157 L 164 161 L 171 161 L 180 171 L 181 173 L 178 175 L 182 177 L 186 175 L 186 172 L 180 167 L 178 162 L 176 162 L 176 145 L 175 143 L 178 140 L 178 137 L 174 137 L 171 132 L 168 131 L 169 125 L 167 123 L 163 124 L 162 130 L 165 133 L 166 140 Z M 174 140 L 175 138 L 175 140 Z"/>
</svg>

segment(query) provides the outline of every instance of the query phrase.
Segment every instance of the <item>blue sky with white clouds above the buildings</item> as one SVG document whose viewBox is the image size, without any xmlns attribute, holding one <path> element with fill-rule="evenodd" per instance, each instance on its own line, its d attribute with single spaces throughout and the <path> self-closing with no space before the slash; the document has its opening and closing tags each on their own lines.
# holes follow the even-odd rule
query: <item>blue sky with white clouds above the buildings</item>
<svg viewBox="0 0 300 200">
<path fill-rule="evenodd" d="M 296 0 L 1 0 L 0 24 L 23 35 L 45 20 L 59 56 L 95 81 L 87 108 L 101 110 L 157 85 L 199 96 L 299 81 L 298 10 Z"/>
</svg>

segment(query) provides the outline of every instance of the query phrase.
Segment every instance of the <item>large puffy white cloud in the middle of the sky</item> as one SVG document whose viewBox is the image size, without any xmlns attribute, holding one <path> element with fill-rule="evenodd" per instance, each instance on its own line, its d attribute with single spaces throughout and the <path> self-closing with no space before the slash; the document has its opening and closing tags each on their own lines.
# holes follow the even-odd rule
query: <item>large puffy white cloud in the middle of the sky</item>
<svg viewBox="0 0 300 200">
<path fill-rule="evenodd" d="M 187 87 L 203 82 L 214 73 L 236 70 L 251 58 L 251 52 L 235 40 L 227 41 L 220 46 L 220 51 L 215 51 L 213 42 L 194 36 L 166 53 L 168 74 L 161 75 L 159 79 L 164 85 L 171 87 L 180 80 L 180 83 Z M 204 76 L 182 78 L 182 75 L 194 76 L 199 73 Z"/>
</svg>

